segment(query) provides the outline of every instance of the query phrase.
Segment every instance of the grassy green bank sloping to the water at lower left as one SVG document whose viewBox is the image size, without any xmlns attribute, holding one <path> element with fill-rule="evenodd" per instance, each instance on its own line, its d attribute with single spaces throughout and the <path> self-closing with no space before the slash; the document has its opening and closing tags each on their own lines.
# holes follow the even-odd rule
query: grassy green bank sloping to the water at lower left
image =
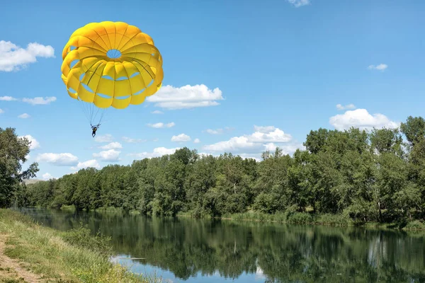
<svg viewBox="0 0 425 283">
<path fill-rule="evenodd" d="M 84 227 L 56 231 L 19 212 L 0 209 L 0 236 L 4 256 L 21 262 L 42 282 L 159 282 L 111 263 L 108 238 L 90 236 Z"/>
</svg>

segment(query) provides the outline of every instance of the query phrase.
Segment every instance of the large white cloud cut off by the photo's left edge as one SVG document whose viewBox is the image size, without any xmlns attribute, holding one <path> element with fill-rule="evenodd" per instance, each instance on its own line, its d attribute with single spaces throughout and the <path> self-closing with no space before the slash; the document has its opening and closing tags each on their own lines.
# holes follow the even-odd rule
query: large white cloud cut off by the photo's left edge
<svg viewBox="0 0 425 283">
<path fill-rule="evenodd" d="M 18 71 L 37 62 L 37 57 L 55 57 L 55 50 L 50 45 L 40 45 L 37 42 L 32 42 L 23 49 L 10 41 L 0 40 L 0 71 Z"/>
</svg>

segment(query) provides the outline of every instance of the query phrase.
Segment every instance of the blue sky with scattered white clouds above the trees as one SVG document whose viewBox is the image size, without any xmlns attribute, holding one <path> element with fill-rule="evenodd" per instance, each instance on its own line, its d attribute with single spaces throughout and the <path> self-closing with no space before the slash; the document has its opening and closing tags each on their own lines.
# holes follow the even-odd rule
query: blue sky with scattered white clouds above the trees
<svg viewBox="0 0 425 283">
<path fill-rule="evenodd" d="M 419 0 L 10 1 L 0 17 L 0 127 L 33 140 L 38 178 L 183 146 L 292 154 L 310 129 L 397 127 L 424 115 L 424 10 Z M 108 110 L 94 139 L 60 67 L 69 36 L 98 21 L 152 36 L 164 87 Z"/>
</svg>

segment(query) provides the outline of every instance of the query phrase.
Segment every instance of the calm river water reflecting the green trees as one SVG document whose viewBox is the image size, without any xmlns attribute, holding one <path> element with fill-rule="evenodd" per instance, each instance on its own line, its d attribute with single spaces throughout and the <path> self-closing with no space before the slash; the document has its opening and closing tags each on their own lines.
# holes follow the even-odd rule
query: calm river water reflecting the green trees
<svg viewBox="0 0 425 283">
<path fill-rule="evenodd" d="M 22 211 L 60 230 L 82 221 L 112 237 L 113 260 L 164 282 L 425 282 L 425 233 Z"/>
</svg>

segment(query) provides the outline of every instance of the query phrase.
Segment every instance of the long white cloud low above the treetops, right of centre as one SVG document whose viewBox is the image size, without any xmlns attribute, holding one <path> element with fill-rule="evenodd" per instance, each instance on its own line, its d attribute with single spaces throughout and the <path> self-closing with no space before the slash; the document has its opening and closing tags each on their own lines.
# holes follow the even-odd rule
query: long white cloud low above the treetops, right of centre
<svg viewBox="0 0 425 283">
<path fill-rule="evenodd" d="M 232 137 L 227 141 L 219 141 L 215 144 L 204 146 L 208 151 L 234 151 L 239 149 L 256 149 L 263 143 L 283 143 L 291 141 L 290 134 L 285 134 L 281 129 L 273 126 L 259 127 L 254 126 L 256 132 L 245 134 L 241 137 Z"/>
</svg>

